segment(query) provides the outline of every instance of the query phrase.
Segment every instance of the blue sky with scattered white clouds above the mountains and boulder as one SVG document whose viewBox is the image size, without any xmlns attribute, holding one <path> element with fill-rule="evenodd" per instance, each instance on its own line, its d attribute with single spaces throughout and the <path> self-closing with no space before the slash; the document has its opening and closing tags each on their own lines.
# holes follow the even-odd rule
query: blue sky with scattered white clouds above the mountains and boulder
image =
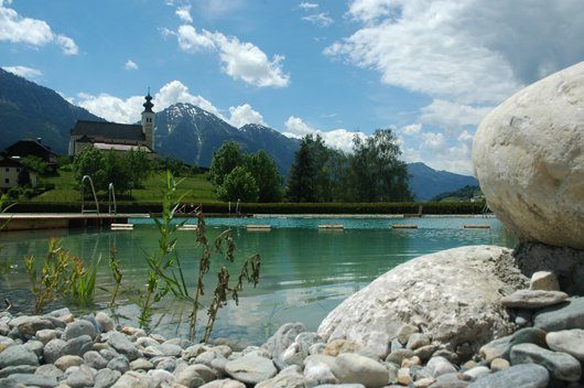
<svg viewBox="0 0 584 388">
<path fill-rule="evenodd" d="M 192 103 L 236 127 L 392 128 L 472 174 L 485 115 L 584 60 L 582 0 L 0 0 L 0 66 L 116 122 Z"/>
</svg>

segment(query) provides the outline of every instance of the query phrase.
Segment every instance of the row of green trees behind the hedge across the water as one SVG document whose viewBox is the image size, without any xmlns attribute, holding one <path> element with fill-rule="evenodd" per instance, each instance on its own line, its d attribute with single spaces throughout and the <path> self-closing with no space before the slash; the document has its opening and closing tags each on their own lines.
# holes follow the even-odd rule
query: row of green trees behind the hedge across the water
<svg viewBox="0 0 584 388">
<path fill-rule="evenodd" d="M 349 153 L 325 146 L 321 136 L 302 139 L 288 182 L 264 152 L 244 154 L 225 142 L 214 154 L 209 180 L 224 201 L 294 203 L 409 202 L 408 169 L 391 129 L 355 137 Z"/>
</svg>

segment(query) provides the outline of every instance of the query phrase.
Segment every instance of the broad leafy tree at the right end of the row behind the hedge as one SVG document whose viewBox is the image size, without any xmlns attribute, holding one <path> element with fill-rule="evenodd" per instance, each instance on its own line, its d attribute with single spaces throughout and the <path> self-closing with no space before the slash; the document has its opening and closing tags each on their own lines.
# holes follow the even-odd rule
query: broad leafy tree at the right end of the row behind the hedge
<svg viewBox="0 0 584 388">
<path fill-rule="evenodd" d="M 354 138 L 349 157 L 349 187 L 359 202 L 411 201 L 408 169 L 391 129 L 378 129 L 365 140 Z"/>
</svg>

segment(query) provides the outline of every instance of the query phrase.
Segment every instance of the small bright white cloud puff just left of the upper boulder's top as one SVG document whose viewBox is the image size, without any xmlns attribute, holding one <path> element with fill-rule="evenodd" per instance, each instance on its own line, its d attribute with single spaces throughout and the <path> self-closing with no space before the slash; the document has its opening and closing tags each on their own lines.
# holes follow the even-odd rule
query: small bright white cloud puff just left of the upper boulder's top
<svg viewBox="0 0 584 388">
<path fill-rule="evenodd" d="M 456 131 L 468 126 L 478 126 L 493 107 L 473 107 L 443 99 L 435 99 L 421 109 L 419 120 L 423 123 Z"/>
</svg>

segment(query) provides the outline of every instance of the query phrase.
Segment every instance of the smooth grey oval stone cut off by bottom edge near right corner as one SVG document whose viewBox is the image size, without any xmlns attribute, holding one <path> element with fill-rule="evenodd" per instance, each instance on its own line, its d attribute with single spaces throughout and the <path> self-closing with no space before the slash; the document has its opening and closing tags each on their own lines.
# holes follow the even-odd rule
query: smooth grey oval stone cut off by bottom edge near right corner
<svg viewBox="0 0 584 388">
<path fill-rule="evenodd" d="M 468 388 L 545 388 L 549 380 L 550 376 L 544 367 L 537 364 L 522 364 L 485 375 L 471 384 Z"/>
</svg>

